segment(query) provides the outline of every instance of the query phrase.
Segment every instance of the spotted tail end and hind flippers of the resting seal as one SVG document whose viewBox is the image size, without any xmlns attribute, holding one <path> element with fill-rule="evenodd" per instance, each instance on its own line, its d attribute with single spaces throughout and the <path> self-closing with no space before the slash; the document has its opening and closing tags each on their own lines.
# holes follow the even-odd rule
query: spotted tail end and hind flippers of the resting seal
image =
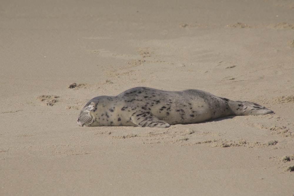
<svg viewBox="0 0 294 196">
<path fill-rule="evenodd" d="M 241 115 L 263 115 L 274 113 L 266 107 L 250 101 L 230 101 L 230 109 L 236 116 Z"/>
</svg>

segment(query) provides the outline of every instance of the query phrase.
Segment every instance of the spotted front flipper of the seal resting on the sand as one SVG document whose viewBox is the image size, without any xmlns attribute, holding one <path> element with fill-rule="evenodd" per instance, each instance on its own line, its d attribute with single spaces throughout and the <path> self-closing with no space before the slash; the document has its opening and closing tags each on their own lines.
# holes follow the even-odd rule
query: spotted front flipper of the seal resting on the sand
<svg viewBox="0 0 294 196">
<path fill-rule="evenodd" d="M 153 116 L 149 111 L 138 110 L 131 115 L 130 120 L 139 127 L 167 128 L 170 126 L 170 124 Z"/>
</svg>

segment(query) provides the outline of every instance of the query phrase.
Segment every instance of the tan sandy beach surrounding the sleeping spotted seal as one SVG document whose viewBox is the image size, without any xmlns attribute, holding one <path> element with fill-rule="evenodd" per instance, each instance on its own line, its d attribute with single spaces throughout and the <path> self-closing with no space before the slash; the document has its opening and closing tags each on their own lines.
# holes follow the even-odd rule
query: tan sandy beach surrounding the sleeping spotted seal
<svg viewBox="0 0 294 196">
<path fill-rule="evenodd" d="M 0 195 L 294 194 L 292 0 L 1 1 L 0 29 Z M 136 86 L 275 113 L 77 125 Z"/>
</svg>

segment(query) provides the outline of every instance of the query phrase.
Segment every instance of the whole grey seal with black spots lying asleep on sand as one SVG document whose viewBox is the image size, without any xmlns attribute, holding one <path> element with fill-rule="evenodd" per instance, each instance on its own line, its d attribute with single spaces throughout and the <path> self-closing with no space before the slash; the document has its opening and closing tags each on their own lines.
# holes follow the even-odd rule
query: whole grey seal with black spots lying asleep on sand
<svg viewBox="0 0 294 196">
<path fill-rule="evenodd" d="M 232 101 L 201 90 L 162 91 L 135 87 L 117 96 L 91 99 L 78 117 L 80 126 L 167 128 L 230 115 L 262 115 L 272 110 L 249 101 Z"/>
</svg>

